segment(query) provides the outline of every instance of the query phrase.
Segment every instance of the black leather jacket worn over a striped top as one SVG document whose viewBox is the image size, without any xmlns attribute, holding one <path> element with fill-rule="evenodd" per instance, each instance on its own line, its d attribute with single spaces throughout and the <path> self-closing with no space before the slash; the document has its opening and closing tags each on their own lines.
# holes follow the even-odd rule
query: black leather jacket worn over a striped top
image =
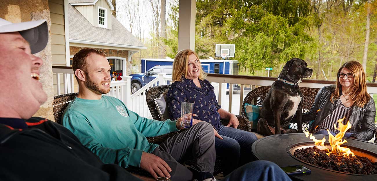
<svg viewBox="0 0 377 181">
<path fill-rule="evenodd" d="M 335 91 L 335 86 L 325 86 L 320 89 L 316 95 L 313 106 L 310 111 L 302 115 L 302 121 L 308 122 L 314 120 L 310 125 L 309 132 L 312 133 L 322 121 L 333 110 L 336 109 L 337 101 L 331 103 L 331 93 Z M 319 110 L 317 112 L 317 110 Z M 376 109 L 374 106 L 374 100 L 371 98 L 364 107 L 352 107 L 351 116 L 349 122 L 351 123 L 351 129 L 349 131 L 354 133 L 352 136 L 359 140 L 368 141 L 374 136 L 374 117 L 376 116 Z"/>
</svg>

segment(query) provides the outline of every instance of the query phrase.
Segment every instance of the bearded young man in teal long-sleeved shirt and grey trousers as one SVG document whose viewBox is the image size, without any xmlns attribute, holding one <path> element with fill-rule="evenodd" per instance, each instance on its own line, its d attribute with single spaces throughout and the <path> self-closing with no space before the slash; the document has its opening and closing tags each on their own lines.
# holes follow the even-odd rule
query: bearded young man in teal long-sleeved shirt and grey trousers
<svg viewBox="0 0 377 181">
<path fill-rule="evenodd" d="M 167 176 L 174 181 L 212 180 L 215 139 L 210 124 L 195 121 L 190 129 L 160 145 L 149 143 L 146 137 L 181 129 L 181 118 L 142 118 L 122 101 L 102 95 L 110 91 L 111 68 L 101 51 L 81 49 L 73 57 L 72 68 L 80 90 L 61 121 L 104 163 L 141 167 L 155 178 Z M 187 158 L 194 159 L 190 169 L 180 164 Z"/>
</svg>

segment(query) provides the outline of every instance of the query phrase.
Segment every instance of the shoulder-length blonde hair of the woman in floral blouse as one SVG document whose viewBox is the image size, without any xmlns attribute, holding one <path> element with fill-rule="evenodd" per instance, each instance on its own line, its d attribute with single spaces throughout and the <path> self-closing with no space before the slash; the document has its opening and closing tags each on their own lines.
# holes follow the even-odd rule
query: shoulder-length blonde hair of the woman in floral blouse
<svg viewBox="0 0 377 181">
<path fill-rule="evenodd" d="M 200 63 L 198 54 L 196 54 L 195 51 L 192 51 L 190 49 L 181 50 L 175 55 L 173 62 L 172 82 L 181 81 L 182 76 L 187 77 L 187 63 L 189 62 L 189 56 L 191 54 L 195 54 L 196 58 Z M 201 68 L 199 79 L 204 80 L 205 77 L 207 77 L 207 74 Z"/>
</svg>

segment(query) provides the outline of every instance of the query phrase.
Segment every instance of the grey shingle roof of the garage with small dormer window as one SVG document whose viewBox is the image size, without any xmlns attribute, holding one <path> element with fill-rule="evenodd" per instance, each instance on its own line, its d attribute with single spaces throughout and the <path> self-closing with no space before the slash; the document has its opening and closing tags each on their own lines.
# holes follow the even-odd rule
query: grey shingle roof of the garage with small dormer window
<svg viewBox="0 0 377 181">
<path fill-rule="evenodd" d="M 94 27 L 73 6 L 68 5 L 69 39 L 145 47 L 112 15 L 112 29 Z"/>
</svg>

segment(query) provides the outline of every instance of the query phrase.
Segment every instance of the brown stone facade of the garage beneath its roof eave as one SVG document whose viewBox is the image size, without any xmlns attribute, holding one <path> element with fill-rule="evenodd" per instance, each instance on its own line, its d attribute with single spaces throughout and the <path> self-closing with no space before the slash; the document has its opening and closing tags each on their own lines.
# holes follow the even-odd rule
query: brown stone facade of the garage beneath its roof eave
<svg viewBox="0 0 377 181">
<path fill-rule="evenodd" d="M 88 47 L 69 47 L 69 54 L 74 55 L 82 48 Z M 104 49 L 104 48 L 96 48 L 97 50 L 103 51 L 107 57 L 122 57 L 127 59 L 127 75 L 131 74 L 132 71 L 132 61 L 128 59 L 128 50 L 113 50 L 113 49 Z"/>
</svg>

